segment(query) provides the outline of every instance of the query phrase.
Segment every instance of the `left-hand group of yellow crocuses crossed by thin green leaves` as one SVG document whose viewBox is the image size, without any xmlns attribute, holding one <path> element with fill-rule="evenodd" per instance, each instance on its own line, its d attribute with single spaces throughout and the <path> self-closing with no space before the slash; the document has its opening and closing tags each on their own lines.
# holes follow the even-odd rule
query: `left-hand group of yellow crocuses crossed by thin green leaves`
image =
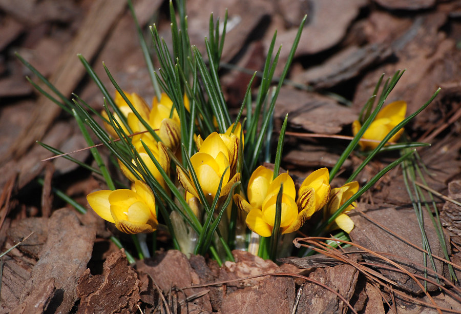
<svg viewBox="0 0 461 314">
<path fill-rule="evenodd" d="M 169 174 L 171 161 L 167 153 L 167 148 L 175 151 L 180 143 L 179 117 L 176 110 L 173 109 L 173 102 L 166 94 L 162 93 L 160 101 L 154 97 L 152 109 L 149 109 L 149 106 L 138 94 L 125 93 L 125 95 L 141 118 L 156 131 L 161 139 L 161 142 L 157 142 L 152 134 L 144 132 L 132 136 L 132 144 L 139 153 L 140 159 L 146 168 L 152 173 L 163 189 L 167 190 L 163 176 L 142 145 L 141 140 L 149 148 L 161 168 Z M 186 100 L 187 98 L 184 97 L 184 102 Z M 127 119 L 128 126 L 133 132 L 146 131 L 144 125 L 118 92 L 115 94 L 114 101 L 125 119 Z M 188 101 L 186 105 L 188 105 Z M 173 114 L 170 118 L 171 113 Z M 105 111 L 102 112 L 102 116 L 109 120 Z M 128 133 L 127 128 L 124 127 L 120 117 L 116 113 L 114 113 L 114 119 L 121 126 L 122 130 Z M 118 137 L 110 124 L 104 122 L 104 126 L 111 136 L 114 138 Z M 132 163 L 136 164 L 134 160 L 132 160 Z M 116 228 L 122 232 L 130 234 L 153 232 L 156 230 L 158 223 L 152 190 L 147 184 L 137 180 L 136 176 L 120 161 L 119 165 L 123 174 L 133 183 L 132 189 L 96 191 L 88 194 L 88 203 L 101 218 L 115 223 Z"/>
</svg>

